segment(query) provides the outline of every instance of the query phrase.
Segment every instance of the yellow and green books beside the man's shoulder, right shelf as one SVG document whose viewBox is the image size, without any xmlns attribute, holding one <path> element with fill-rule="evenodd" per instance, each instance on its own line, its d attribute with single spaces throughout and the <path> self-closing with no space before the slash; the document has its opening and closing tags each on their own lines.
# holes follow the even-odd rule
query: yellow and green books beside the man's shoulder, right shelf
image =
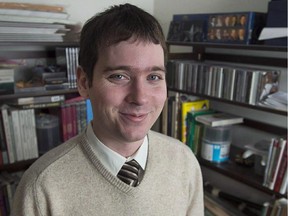
<svg viewBox="0 0 288 216">
<path fill-rule="evenodd" d="M 210 109 L 207 99 L 195 99 L 186 94 L 176 93 L 166 100 L 162 112 L 162 133 L 181 140 L 197 155 L 203 125 L 217 127 L 242 122 L 242 117 Z"/>
</svg>

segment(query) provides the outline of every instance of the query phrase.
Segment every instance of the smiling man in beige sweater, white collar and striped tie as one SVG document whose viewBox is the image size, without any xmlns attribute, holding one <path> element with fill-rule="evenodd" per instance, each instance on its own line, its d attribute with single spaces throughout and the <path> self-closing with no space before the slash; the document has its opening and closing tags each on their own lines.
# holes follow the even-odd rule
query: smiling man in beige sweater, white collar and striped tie
<svg viewBox="0 0 288 216">
<path fill-rule="evenodd" d="M 150 130 L 166 100 L 166 52 L 159 23 L 133 5 L 84 25 L 78 90 L 93 120 L 26 171 L 13 216 L 204 215 L 192 152 Z"/>
</svg>

